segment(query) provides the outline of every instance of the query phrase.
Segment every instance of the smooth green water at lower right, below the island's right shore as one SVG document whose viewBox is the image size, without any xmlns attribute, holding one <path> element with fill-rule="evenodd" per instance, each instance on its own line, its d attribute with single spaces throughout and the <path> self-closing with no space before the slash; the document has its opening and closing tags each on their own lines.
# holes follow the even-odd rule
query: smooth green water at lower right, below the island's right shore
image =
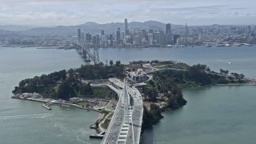
<svg viewBox="0 0 256 144">
<path fill-rule="evenodd" d="M 187 105 L 164 113 L 164 118 L 143 136 L 153 136 L 157 144 L 254 144 L 255 93 L 256 86 L 202 86 L 183 90 Z"/>
</svg>

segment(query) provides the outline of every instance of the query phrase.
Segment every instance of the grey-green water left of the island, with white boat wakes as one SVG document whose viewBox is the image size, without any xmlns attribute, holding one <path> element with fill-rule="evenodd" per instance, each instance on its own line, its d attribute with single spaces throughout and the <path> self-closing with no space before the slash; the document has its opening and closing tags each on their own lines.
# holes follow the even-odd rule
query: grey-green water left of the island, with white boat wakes
<svg viewBox="0 0 256 144">
<path fill-rule="evenodd" d="M 83 64 L 75 50 L 0 48 L 0 143 L 99 143 L 89 126 L 98 113 L 73 107 L 42 108 L 39 102 L 11 99 L 24 78 Z"/>
</svg>

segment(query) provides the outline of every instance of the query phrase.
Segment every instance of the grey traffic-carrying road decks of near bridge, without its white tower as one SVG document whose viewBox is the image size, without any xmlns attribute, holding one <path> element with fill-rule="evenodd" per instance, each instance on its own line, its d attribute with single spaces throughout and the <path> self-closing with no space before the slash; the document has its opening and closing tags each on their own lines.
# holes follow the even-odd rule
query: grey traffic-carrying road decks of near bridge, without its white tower
<svg viewBox="0 0 256 144">
<path fill-rule="evenodd" d="M 115 86 L 122 88 L 124 83 L 116 78 L 110 78 L 110 82 L 114 83 Z M 114 86 L 113 86 L 114 87 Z M 140 141 L 141 127 L 142 127 L 142 116 L 143 116 L 143 104 L 142 95 L 135 87 L 128 87 L 128 93 L 134 99 L 134 106 L 130 110 L 130 119 L 132 121 L 128 125 L 127 129 L 124 129 L 124 94 L 123 91 L 118 94 L 119 101 L 114 115 L 110 121 L 110 125 L 107 128 L 106 134 L 102 139 L 102 144 L 138 144 Z M 126 132 L 128 130 L 128 132 Z"/>
</svg>

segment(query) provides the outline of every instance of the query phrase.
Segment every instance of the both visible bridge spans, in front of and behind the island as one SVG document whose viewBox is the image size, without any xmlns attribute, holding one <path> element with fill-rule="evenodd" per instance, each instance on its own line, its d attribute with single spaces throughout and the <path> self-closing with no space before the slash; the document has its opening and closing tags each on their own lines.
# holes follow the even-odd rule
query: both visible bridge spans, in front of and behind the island
<svg viewBox="0 0 256 144">
<path fill-rule="evenodd" d="M 79 53 L 86 62 L 90 62 L 91 59 L 94 64 L 100 63 L 98 49 L 94 48 L 94 53 L 91 53 L 90 42 L 81 38 L 80 29 L 78 29 L 78 40 L 74 45 L 79 47 Z M 108 85 L 110 89 L 118 94 L 118 104 L 101 143 L 139 144 L 143 117 L 142 94 L 135 86 L 130 87 L 126 80 L 121 82 L 118 78 L 109 78 L 109 81 L 112 84 Z M 102 85 L 106 84 L 102 83 Z"/>
</svg>

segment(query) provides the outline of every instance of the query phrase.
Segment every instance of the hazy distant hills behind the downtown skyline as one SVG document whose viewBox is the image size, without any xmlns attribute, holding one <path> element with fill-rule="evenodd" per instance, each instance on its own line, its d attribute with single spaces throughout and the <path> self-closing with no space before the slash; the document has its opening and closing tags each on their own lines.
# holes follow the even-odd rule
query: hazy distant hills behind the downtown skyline
<svg viewBox="0 0 256 144">
<path fill-rule="evenodd" d="M 165 23 L 157 21 L 146 22 L 130 22 L 129 29 L 165 29 Z M 178 25 L 175 25 L 178 26 Z M 101 30 L 105 31 L 105 34 L 112 34 L 120 27 L 121 31 L 124 31 L 123 22 L 111 22 L 106 24 L 98 24 L 96 22 L 86 22 L 78 26 L 54 26 L 54 27 L 32 27 L 32 26 L 0 26 L 0 30 L 9 30 L 18 34 L 26 35 L 59 35 L 59 36 L 72 36 L 77 34 L 77 30 L 81 29 L 84 33 L 99 34 Z"/>
</svg>

